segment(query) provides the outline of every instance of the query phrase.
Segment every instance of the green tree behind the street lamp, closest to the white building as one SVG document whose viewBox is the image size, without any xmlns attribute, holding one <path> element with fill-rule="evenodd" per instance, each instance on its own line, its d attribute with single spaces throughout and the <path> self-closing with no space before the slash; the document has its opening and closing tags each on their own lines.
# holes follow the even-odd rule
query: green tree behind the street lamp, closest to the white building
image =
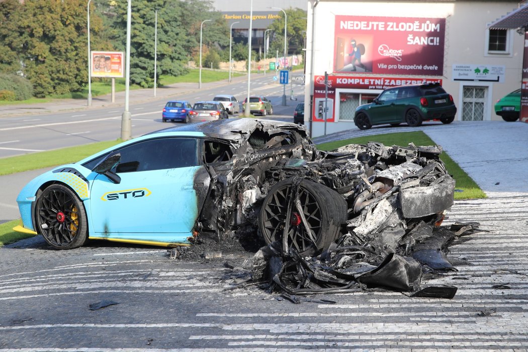
<svg viewBox="0 0 528 352">
<path fill-rule="evenodd" d="M 285 9 L 286 19 L 286 42 L 288 53 L 301 52 L 304 47 L 306 36 L 306 12 L 300 8 Z M 273 40 L 270 43 L 270 52 L 279 51 L 284 54 L 284 14 L 280 11 L 281 18 L 273 21 L 268 27 L 273 31 Z"/>
</svg>

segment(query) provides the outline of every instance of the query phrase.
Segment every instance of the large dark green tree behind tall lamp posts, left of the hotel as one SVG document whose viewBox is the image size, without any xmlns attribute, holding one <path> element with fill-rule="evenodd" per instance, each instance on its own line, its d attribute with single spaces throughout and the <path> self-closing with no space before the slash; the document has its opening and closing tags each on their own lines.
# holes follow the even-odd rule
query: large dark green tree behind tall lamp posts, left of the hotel
<svg viewBox="0 0 528 352">
<path fill-rule="evenodd" d="M 157 27 L 157 82 L 159 75 L 180 75 L 186 72 L 187 61 L 199 51 L 200 24 L 203 19 L 212 19 L 204 25 L 203 43 L 229 42 L 229 33 L 221 14 L 212 11 L 212 4 L 206 0 L 153 0 L 132 3 L 130 81 L 142 87 L 154 85 L 154 32 L 155 10 L 158 12 Z M 116 19 L 112 40 L 120 50 L 125 50 L 126 3 L 115 7 Z M 210 25 L 209 25 L 210 24 Z"/>
</svg>

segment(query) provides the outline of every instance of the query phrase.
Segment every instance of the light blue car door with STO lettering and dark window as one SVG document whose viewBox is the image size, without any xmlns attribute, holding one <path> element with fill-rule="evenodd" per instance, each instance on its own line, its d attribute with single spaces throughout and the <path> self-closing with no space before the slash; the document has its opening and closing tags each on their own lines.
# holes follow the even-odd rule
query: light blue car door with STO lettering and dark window
<svg viewBox="0 0 528 352">
<path fill-rule="evenodd" d="M 197 139 L 153 138 L 116 151 L 120 182 L 98 175 L 91 186 L 90 237 L 185 242 L 198 213 L 195 178 L 204 172 Z"/>
</svg>

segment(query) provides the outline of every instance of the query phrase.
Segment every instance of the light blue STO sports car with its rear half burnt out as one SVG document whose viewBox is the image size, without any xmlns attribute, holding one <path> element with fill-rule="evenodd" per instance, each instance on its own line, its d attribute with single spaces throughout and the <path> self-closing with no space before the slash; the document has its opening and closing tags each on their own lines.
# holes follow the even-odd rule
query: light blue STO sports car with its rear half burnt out
<svg viewBox="0 0 528 352">
<path fill-rule="evenodd" d="M 426 169 L 419 185 L 431 184 L 399 191 L 404 217 L 436 220 L 452 204 L 441 149 L 398 148 L 327 153 L 303 126 L 250 118 L 168 128 L 36 177 L 18 195 L 23 225 L 14 230 L 42 234 L 55 249 L 258 233 L 286 252 L 318 253 L 348 231 L 347 221 L 399 191 L 401 175 Z"/>
</svg>

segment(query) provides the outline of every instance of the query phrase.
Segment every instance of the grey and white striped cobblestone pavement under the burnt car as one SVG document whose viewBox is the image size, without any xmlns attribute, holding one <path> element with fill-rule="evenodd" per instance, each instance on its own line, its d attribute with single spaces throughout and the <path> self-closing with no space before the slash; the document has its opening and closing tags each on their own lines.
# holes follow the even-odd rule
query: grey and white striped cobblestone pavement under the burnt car
<svg viewBox="0 0 528 352">
<path fill-rule="evenodd" d="M 294 305 L 224 290 L 249 254 L 187 262 L 107 242 L 54 251 L 34 237 L 0 249 L 0 352 L 524 351 L 527 212 L 524 196 L 455 202 L 447 223 L 485 232 L 451 247 L 458 271 L 426 282 L 457 286 L 451 300 L 372 291 Z M 119 304 L 89 310 L 103 300 Z"/>
</svg>

